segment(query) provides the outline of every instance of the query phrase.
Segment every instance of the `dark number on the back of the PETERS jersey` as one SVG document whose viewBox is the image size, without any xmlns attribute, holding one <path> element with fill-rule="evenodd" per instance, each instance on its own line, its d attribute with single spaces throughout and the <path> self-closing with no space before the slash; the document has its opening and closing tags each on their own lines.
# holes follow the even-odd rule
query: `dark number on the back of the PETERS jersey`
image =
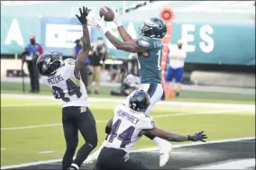
<svg viewBox="0 0 256 170">
<path fill-rule="evenodd" d="M 76 94 L 78 98 L 80 98 L 82 96 L 82 93 L 80 92 L 80 87 L 78 85 L 76 85 L 72 80 L 70 80 L 70 79 L 66 80 L 66 85 L 68 87 L 69 95 Z M 52 86 L 51 91 L 52 91 L 53 96 L 56 99 L 62 99 L 66 103 L 70 102 L 69 97 L 65 97 L 63 90 L 61 88 L 59 88 L 59 86 Z"/>
</svg>

